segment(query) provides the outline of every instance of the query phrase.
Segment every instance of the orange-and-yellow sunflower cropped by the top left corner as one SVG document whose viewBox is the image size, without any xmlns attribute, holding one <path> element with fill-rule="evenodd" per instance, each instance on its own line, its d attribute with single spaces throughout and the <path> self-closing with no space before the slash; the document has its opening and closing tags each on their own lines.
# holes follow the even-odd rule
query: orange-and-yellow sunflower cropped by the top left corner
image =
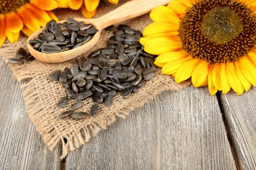
<svg viewBox="0 0 256 170">
<path fill-rule="evenodd" d="M 0 46 L 6 37 L 13 43 L 20 31 L 29 36 L 49 20 L 58 20 L 51 12 L 57 7 L 55 0 L 0 0 Z"/>
</svg>

